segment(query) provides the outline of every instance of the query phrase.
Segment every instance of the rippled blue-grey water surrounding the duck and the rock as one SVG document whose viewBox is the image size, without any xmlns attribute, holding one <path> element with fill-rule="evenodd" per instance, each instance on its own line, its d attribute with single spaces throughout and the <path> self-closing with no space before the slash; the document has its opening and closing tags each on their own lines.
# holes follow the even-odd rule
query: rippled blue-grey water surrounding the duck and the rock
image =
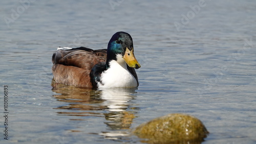
<svg viewBox="0 0 256 144">
<path fill-rule="evenodd" d="M 168 113 L 201 119 L 203 143 L 256 142 L 255 1 L 1 1 L 0 143 L 140 143 L 127 131 Z M 58 46 L 105 49 L 130 33 L 138 89 L 52 89 Z M 4 115 L 4 113 L 2 113 Z"/>
</svg>

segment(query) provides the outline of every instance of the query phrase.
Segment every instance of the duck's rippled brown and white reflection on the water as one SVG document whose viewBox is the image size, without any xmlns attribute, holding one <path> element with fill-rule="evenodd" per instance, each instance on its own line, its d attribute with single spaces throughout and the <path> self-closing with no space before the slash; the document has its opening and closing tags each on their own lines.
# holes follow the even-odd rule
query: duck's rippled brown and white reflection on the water
<svg viewBox="0 0 256 144">
<path fill-rule="evenodd" d="M 68 102 L 66 106 L 57 107 L 60 115 L 78 116 L 71 120 L 83 121 L 84 116 L 105 117 L 109 132 L 98 133 L 105 138 L 116 139 L 127 135 L 124 130 L 129 129 L 138 110 L 131 102 L 137 88 L 111 88 L 91 90 L 76 88 L 62 84 L 54 84 L 53 91 L 60 93 L 53 95 L 57 101 Z M 95 124 L 96 125 L 96 124 Z M 117 131 L 114 131 L 117 130 Z M 90 133 L 90 132 L 89 132 Z"/>
</svg>

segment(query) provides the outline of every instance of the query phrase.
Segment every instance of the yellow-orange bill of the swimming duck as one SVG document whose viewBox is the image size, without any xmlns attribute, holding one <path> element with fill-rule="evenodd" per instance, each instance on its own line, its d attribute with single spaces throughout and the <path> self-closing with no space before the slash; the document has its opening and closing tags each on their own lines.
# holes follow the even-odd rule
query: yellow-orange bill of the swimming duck
<svg viewBox="0 0 256 144">
<path fill-rule="evenodd" d="M 132 51 L 130 51 L 127 47 L 123 56 L 123 59 L 125 60 L 125 62 L 127 63 L 127 65 L 129 65 L 130 67 L 133 68 L 140 68 L 140 64 L 139 62 L 136 60 L 134 54 L 133 54 L 133 48 Z"/>
</svg>

